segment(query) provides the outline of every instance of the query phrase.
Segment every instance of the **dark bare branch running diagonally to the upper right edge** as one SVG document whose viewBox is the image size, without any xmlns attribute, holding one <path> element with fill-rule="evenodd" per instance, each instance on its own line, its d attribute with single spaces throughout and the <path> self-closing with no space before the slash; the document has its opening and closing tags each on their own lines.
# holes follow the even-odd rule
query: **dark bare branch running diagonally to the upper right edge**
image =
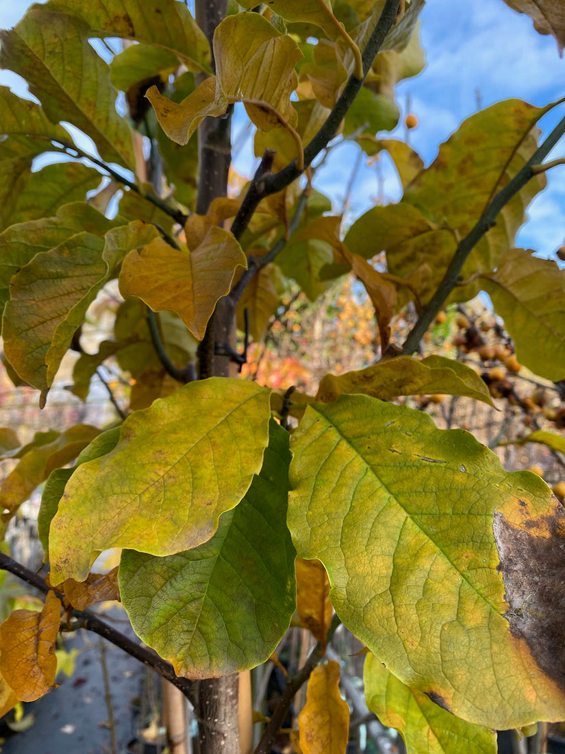
<svg viewBox="0 0 565 754">
<path fill-rule="evenodd" d="M 454 290 L 454 287 L 456 287 L 457 280 L 460 277 L 463 265 L 467 261 L 469 254 L 478 242 L 481 241 L 484 234 L 486 234 L 493 225 L 496 225 L 496 217 L 499 212 L 536 174 L 535 166 L 539 166 L 542 160 L 547 157 L 549 152 L 551 152 L 551 149 L 554 148 L 564 133 L 565 118 L 562 118 L 557 126 L 554 127 L 554 130 L 552 130 L 549 136 L 542 142 L 536 152 L 530 157 L 524 167 L 522 167 L 521 170 L 516 173 L 514 178 L 505 185 L 504 189 L 496 194 L 493 201 L 491 201 L 487 209 L 484 210 L 484 213 L 475 227 L 472 228 L 472 231 L 463 238 L 463 241 L 460 241 L 453 258 L 447 267 L 443 280 L 441 280 L 441 283 L 438 285 L 432 298 L 426 306 L 424 306 L 420 313 L 420 317 L 418 317 L 411 332 L 408 333 L 408 338 L 402 346 L 402 354 L 410 356 L 417 350 L 423 334 L 426 333 L 430 324 L 435 320 L 435 317 L 437 317 L 438 311 L 440 311 L 446 302 L 447 297 L 450 295 L 451 291 Z"/>
</svg>

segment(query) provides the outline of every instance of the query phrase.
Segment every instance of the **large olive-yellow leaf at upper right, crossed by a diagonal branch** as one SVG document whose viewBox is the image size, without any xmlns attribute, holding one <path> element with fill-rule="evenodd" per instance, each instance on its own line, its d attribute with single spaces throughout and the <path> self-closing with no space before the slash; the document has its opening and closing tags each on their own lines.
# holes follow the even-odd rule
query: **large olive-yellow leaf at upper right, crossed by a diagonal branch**
<svg viewBox="0 0 565 754">
<path fill-rule="evenodd" d="M 441 145 L 438 157 L 405 188 L 400 204 L 374 207 L 350 228 L 345 243 L 361 256 L 386 250 L 389 272 L 408 277 L 423 264 L 432 274 L 419 290 L 425 302 L 457 248 L 499 192 L 536 150 L 536 121 L 543 110 L 505 100 L 475 113 Z M 463 278 L 496 268 L 515 241 L 525 210 L 545 186 L 536 176 L 509 202 L 472 251 Z M 458 287 L 451 299 L 464 301 L 480 290 L 478 281 Z"/>
</svg>

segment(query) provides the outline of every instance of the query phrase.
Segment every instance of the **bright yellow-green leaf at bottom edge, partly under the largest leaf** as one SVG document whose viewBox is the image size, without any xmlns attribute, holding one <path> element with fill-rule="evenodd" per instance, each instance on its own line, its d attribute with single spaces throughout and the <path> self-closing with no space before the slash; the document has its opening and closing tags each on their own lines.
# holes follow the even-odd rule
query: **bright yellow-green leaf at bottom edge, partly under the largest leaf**
<svg viewBox="0 0 565 754">
<path fill-rule="evenodd" d="M 443 710 L 399 681 L 374 654 L 365 657 L 363 682 L 369 710 L 402 734 L 408 754 L 496 754 L 494 731 Z"/>
</svg>

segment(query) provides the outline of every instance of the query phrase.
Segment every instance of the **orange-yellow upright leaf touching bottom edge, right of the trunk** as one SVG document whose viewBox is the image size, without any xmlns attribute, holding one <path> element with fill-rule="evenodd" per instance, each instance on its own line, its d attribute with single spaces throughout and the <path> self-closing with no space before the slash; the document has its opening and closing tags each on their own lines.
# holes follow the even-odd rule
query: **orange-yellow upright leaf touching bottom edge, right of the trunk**
<svg viewBox="0 0 565 754">
<path fill-rule="evenodd" d="M 340 667 L 329 660 L 314 668 L 306 704 L 298 715 L 303 754 L 345 754 L 349 739 L 350 708 L 340 694 Z"/>
</svg>

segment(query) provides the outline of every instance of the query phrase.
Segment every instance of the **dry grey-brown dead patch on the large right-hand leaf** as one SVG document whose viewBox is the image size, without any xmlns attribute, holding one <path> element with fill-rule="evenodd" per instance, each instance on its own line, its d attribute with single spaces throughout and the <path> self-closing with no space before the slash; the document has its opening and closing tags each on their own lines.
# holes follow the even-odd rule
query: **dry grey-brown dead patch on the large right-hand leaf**
<svg viewBox="0 0 565 754">
<path fill-rule="evenodd" d="M 512 635 L 525 639 L 540 668 L 565 688 L 565 509 L 512 526 L 494 514 L 493 533 Z M 537 534 L 533 532 L 538 532 Z"/>
</svg>

